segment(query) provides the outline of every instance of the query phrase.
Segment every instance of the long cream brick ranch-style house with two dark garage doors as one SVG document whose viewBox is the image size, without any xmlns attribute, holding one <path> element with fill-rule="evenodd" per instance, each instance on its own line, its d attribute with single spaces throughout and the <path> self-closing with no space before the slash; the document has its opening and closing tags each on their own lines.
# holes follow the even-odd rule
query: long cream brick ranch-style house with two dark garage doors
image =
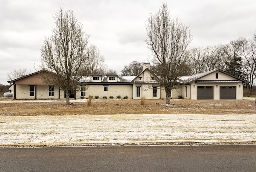
<svg viewBox="0 0 256 172">
<path fill-rule="evenodd" d="M 66 94 L 54 85 L 46 85 L 40 77 L 41 70 L 8 81 L 12 84 L 13 99 L 36 100 L 36 99 L 64 99 Z M 151 70 L 150 65 L 145 63 L 143 71 L 137 76 L 86 76 L 80 80 L 80 88 L 70 92 L 70 98 L 98 98 L 140 99 L 166 99 L 164 88 L 158 81 L 160 78 Z M 182 76 L 177 84 L 181 84 L 170 92 L 170 98 L 192 100 L 221 100 L 243 99 L 243 84 L 247 81 L 238 78 L 223 70 L 211 70 L 192 76 Z"/>
</svg>

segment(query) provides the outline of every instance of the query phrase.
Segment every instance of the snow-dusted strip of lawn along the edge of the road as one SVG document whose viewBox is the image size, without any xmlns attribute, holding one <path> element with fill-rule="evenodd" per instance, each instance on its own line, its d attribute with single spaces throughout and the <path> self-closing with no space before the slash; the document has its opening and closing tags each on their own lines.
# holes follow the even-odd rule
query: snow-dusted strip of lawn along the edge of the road
<svg viewBox="0 0 256 172">
<path fill-rule="evenodd" d="M 1 116 L 0 146 L 256 142 L 255 115 Z"/>
</svg>

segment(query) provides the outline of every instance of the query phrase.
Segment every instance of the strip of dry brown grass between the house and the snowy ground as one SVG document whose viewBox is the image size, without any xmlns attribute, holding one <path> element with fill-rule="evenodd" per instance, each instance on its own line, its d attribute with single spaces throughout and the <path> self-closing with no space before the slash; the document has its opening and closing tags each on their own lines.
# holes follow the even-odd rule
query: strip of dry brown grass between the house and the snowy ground
<svg viewBox="0 0 256 172">
<path fill-rule="evenodd" d="M 12 101 L 12 100 L 10 100 Z M 23 102 L 0 104 L 0 115 L 106 115 L 106 114 L 254 114 L 255 102 L 249 100 L 203 101 L 203 100 L 92 100 L 73 102 Z"/>
</svg>

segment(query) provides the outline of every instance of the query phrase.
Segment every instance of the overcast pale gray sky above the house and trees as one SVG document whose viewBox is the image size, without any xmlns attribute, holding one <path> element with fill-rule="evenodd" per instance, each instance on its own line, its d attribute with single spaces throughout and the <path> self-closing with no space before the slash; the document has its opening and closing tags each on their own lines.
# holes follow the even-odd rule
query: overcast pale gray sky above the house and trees
<svg viewBox="0 0 256 172">
<path fill-rule="evenodd" d="M 7 73 L 40 63 L 40 49 L 54 27 L 60 7 L 71 10 L 89 41 L 104 55 L 108 68 L 118 72 L 131 61 L 148 61 L 146 20 L 162 0 L 0 0 L 0 83 Z M 255 0 L 168 0 L 170 14 L 190 25 L 190 47 L 206 47 L 253 37 Z"/>
</svg>

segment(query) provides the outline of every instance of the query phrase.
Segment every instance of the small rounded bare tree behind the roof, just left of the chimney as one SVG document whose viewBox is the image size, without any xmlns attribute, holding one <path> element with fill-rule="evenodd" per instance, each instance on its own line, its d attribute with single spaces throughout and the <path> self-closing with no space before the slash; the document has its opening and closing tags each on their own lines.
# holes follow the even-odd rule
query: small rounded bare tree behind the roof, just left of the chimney
<svg viewBox="0 0 256 172">
<path fill-rule="evenodd" d="M 122 76 L 137 76 L 143 71 L 143 62 L 132 61 L 121 70 Z"/>
</svg>

